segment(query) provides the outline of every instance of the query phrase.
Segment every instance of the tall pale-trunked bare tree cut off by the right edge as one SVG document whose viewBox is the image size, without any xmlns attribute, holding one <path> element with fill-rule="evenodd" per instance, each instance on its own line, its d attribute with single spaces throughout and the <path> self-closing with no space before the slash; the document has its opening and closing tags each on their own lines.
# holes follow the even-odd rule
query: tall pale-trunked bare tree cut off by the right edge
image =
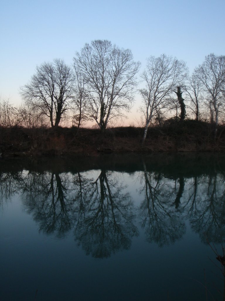
<svg viewBox="0 0 225 301">
<path fill-rule="evenodd" d="M 214 137 L 216 137 L 220 107 L 224 104 L 225 56 L 213 53 L 207 55 L 205 61 L 195 68 L 193 76 L 205 92 L 205 99 L 208 101 L 215 123 Z"/>
</svg>

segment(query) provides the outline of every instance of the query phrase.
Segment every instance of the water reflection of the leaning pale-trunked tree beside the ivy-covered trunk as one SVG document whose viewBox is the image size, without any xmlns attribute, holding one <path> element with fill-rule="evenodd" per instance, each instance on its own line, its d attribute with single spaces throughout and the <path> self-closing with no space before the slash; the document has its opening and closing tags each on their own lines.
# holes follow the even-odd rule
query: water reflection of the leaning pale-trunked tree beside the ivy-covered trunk
<svg viewBox="0 0 225 301">
<path fill-rule="evenodd" d="M 145 198 L 140 205 L 141 226 L 149 243 L 155 242 L 163 247 L 181 239 L 185 233 L 185 223 L 178 209 L 184 180 L 179 181 L 182 185 L 176 193 L 171 181 L 165 182 L 160 172 L 147 172 L 145 163 L 143 167 L 144 185 L 140 193 L 144 193 Z"/>
</svg>

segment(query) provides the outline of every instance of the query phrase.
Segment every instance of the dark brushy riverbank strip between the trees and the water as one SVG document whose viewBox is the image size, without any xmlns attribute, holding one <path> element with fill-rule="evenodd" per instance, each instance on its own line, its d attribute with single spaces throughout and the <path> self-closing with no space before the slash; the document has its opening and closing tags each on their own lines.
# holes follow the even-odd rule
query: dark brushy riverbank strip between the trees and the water
<svg viewBox="0 0 225 301">
<path fill-rule="evenodd" d="M 107 129 L 3 128 L 0 127 L 1 157 L 99 153 L 147 153 L 225 150 L 225 126 L 219 126 L 214 139 L 214 126 L 200 121 L 165 123 L 149 128 L 145 145 L 144 129 L 117 127 Z"/>
</svg>

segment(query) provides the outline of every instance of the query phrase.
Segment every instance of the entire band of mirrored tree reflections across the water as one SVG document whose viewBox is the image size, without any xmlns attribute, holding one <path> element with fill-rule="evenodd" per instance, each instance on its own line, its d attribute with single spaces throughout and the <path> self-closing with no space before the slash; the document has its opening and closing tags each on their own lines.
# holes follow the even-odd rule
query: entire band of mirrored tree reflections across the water
<svg viewBox="0 0 225 301">
<path fill-rule="evenodd" d="M 93 179 L 79 169 L 73 173 L 37 170 L 0 171 L 2 209 L 4 202 L 21 193 L 26 212 L 33 215 L 40 231 L 64 237 L 73 230 L 78 244 L 95 258 L 128 249 L 138 235 L 136 218 L 147 241 L 160 247 L 183 237 L 186 219 L 203 242 L 207 237 L 223 243 L 224 175 L 216 169 L 186 175 L 152 165 L 147 169 L 143 160 L 135 173 L 141 178 L 142 201 L 137 208 L 119 172 L 102 168 Z"/>
</svg>

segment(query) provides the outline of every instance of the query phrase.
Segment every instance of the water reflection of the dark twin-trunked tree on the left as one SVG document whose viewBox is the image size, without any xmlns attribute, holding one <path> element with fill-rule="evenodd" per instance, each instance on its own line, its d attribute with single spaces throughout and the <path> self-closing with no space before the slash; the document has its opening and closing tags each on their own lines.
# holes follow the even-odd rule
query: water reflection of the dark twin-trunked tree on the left
<svg viewBox="0 0 225 301">
<path fill-rule="evenodd" d="M 73 200 L 67 197 L 68 174 L 28 172 L 23 194 L 26 206 L 46 234 L 56 232 L 63 237 L 73 226 Z"/>
</svg>

